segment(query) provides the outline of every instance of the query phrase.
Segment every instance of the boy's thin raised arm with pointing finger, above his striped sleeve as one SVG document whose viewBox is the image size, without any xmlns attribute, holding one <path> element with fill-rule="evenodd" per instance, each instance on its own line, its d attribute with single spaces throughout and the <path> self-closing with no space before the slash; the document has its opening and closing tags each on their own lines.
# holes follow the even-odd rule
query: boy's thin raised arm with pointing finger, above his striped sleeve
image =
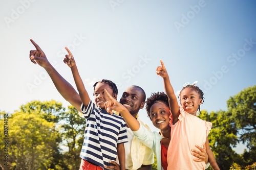
<svg viewBox="0 0 256 170">
<path fill-rule="evenodd" d="M 79 72 L 78 72 L 78 69 L 76 66 L 76 62 L 74 60 L 72 53 L 70 52 L 68 47 L 65 47 L 65 49 L 68 51 L 69 54 L 65 56 L 63 62 L 66 63 L 71 68 L 71 71 L 72 71 L 72 74 L 73 74 L 73 77 L 74 77 L 74 80 L 76 83 L 76 87 L 79 92 L 82 103 L 84 106 L 87 107 L 90 102 L 89 94 L 83 85 L 82 79 L 79 75 Z"/>
</svg>

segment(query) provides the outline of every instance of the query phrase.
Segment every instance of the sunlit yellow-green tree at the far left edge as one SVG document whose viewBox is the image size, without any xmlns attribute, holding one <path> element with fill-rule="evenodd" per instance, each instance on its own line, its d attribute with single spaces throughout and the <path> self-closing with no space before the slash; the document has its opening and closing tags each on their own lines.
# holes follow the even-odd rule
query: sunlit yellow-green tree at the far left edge
<svg viewBox="0 0 256 170">
<path fill-rule="evenodd" d="M 32 101 L 22 105 L 20 111 L 8 114 L 10 169 L 48 169 L 59 164 L 55 156 L 60 155 L 58 150 L 61 138 L 55 122 L 58 120 L 56 113 L 64 110 L 61 103 L 55 101 Z M 2 120 L 3 116 L 0 118 Z M 3 127 L 3 124 L 4 121 L 1 121 L 0 126 Z M 3 128 L 0 129 L 1 134 L 4 133 L 2 131 Z"/>
</svg>

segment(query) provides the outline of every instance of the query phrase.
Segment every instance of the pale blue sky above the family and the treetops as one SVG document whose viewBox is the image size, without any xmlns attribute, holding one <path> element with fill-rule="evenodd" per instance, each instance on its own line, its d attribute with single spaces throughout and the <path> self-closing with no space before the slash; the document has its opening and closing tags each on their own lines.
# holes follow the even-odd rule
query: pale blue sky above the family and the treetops
<svg viewBox="0 0 256 170">
<path fill-rule="evenodd" d="M 1 1 L 0 110 L 32 100 L 68 106 L 44 69 L 29 60 L 32 38 L 74 85 L 62 62 L 68 46 L 84 84 L 114 81 L 118 100 L 130 85 L 164 91 L 162 59 L 176 91 L 198 80 L 201 109 L 226 110 L 230 96 L 256 84 L 255 1 Z M 93 95 L 91 95 L 93 98 Z M 141 119 L 155 130 L 145 110 Z"/>
</svg>

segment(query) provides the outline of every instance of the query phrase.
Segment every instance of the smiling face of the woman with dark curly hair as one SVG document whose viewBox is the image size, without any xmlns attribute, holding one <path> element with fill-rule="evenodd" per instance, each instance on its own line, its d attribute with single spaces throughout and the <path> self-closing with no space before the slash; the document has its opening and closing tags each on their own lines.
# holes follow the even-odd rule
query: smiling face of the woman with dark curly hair
<svg viewBox="0 0 256 170">
<path fill-rule="evenodd" d="M 150 108 L 153 125 L 160 130 L 169 129 L 170 109 L 164 103 L 156 102 Z"/>
</svg>

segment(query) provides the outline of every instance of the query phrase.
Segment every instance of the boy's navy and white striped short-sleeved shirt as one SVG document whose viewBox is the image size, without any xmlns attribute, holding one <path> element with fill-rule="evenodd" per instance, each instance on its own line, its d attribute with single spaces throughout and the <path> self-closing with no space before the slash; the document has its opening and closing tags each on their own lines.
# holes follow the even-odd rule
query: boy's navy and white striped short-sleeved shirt
<svg viewBox="0 0 256 170">
<path fill-rule="evenodd" d="M 87 124 L 80 157 L 102 168 L 110 165 L 110 160 L 116 161 L 117 144 L 128 141 L 124 119 L 102 110 L 92 100 L 87 108 L 82 104 L 81 111 Z"/>
</svg>

